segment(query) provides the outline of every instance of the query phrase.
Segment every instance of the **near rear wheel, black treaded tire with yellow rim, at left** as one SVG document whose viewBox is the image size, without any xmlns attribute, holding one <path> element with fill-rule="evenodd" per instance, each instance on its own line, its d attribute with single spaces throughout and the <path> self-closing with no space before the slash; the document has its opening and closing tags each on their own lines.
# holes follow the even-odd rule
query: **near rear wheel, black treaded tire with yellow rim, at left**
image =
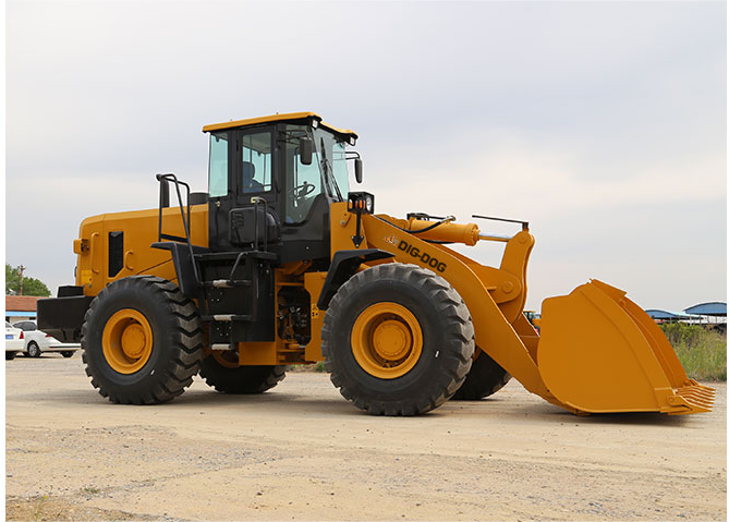
<svg viewBox="0 0 729 522">
<path fill-rule="evenodd" d="M 86 375 L 111 402 L 155 404 L 181 394 L 203 357 L 195 304 L 177 284 L 133 276 L 92 301 L 81 330 Z"/>
</svg>

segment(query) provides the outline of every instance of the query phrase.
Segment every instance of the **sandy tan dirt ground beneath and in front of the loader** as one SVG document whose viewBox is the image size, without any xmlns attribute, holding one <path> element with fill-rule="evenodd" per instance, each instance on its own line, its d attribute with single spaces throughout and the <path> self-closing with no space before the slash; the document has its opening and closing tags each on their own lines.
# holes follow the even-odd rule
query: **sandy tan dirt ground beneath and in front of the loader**
<svg viewBox="0 0 729 522">
<path fill-rule="evenodd" d="M 709 414 L 575 417 L 511 381 L 421 417 L 373 417 L 326 374 L 268 393 L 196 380 L 109 403 L 81 356 L 5 366 L 11 521 L 726 520 L 726 385 Z"/>
</svg>

